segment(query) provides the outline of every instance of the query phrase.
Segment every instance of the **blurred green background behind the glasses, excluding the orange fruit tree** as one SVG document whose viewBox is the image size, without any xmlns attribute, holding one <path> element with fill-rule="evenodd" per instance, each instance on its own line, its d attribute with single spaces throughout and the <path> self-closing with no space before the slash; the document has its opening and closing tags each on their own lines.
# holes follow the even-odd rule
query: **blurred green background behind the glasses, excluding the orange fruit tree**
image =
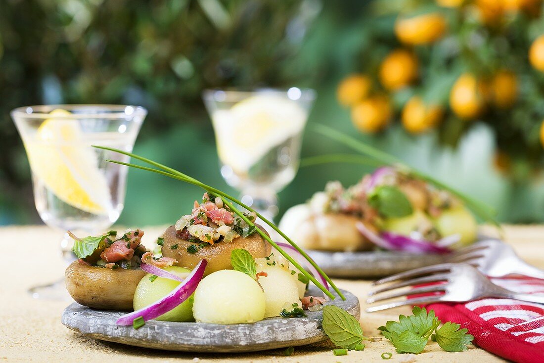
<svg viewBox="0 0 544 363">
<path fill-rule="evenodd" d="M 349 114 L 336 102 L 336 84 L 369 63 L 374 51 L 370 40 L 385 34 L 392 22 L 391 16 L 369 19 L 367 3 L 0 2 L 0 225 L 40 222 L 33 206 L 27 158 L 9 117 L 10 109 L 27 104 L 144 106 L 149 116 L 134 152 L 230 189 L 219 174 L 201 91 L 313 87 L 318 100 L 308 121 L 302 155 L 347 151 L 318 136 L 311 126 L 320 122 L 355 134 Z M 490 167 L 493 143 L 489 128 L 475 127 L 467 143 L 461 141 L 455 152 L 440 146 L 435 133 L 414 138 L 398 127 L 377 137 L 360 137 L 499 207 L 502 220 L 544 220 L 542 188 L 538 193 L 527 188 L 512 192 Z M 280 209 L 283 212 L 305 201 L 328 180 L 350 184 L 369 170 L 349 164 L 302 168 L 280 193 Z M 139 170 L 131 170 L 128 180 L 126 206 L 119 220 L 125 225 L 171 223 L 201 193 Z M 515 196 L 521 194 L 534 205 L 519 202 Z M 512 207 L 512 201 L 518 205 Z"/>
</svg>

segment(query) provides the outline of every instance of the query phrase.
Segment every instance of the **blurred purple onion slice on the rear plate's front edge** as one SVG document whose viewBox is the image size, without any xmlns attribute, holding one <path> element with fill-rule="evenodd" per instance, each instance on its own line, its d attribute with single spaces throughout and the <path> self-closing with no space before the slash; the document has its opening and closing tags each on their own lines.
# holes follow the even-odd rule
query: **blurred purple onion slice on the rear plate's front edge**
<svg viewBox="0 0 544 363">
<path fill-rule="evenodd" d="M 397 233 L 382 232 L 381 236 L 379 236 L 368 229 L 362 222 L 357 223 L 357 229 L 364 237 L 368 238 L 370 242 L 386 250 L 434 254 L 445 254 L 452 251 L 449 248 L 441 247 L 428 241 L 421 241 L 408 236 L 397 235 Z"/>
</svg>

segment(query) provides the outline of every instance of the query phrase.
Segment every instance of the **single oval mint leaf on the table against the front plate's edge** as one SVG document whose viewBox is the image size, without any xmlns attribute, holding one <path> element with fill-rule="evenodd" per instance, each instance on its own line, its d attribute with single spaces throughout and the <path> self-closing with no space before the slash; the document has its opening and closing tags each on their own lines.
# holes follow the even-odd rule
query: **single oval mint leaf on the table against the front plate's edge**
<svg viewBox="0 0 544 363">
<path fill-rule="evenodd" d="M 366 337 L 353 316 L 335 305 L 323 307 L 323 330 L 338 347 L 355 349 Z"/>
</svg>

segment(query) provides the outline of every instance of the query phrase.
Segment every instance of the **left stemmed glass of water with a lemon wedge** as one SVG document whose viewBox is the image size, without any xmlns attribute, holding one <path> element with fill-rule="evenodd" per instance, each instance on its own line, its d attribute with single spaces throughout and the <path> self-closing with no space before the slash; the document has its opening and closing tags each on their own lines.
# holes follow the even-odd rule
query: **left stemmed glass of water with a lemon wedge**
<svg viewBox="0 0 544 363">
<path fill-rule="evenodd" d="M 147 110 L 138 106 L 52 105 L 11 111 L 27 152 L 34 201 L 40 218 L 54 229 L 81 237 L 103 233 L 119 218 L 128 168 L 106 159 L 127 156 L 92 145 L 132 151 Z M 61 251 L 75 258 L 65 234 Z M 30 289 L 34 298 L 64 299 L 64 279 Z"/>
</svg>

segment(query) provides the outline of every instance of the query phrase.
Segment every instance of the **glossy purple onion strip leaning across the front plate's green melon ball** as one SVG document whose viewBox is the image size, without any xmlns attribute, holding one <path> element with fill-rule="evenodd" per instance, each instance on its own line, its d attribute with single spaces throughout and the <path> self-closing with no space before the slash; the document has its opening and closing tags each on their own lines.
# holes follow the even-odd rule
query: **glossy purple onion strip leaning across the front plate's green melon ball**
<svg viewBox="0 0 544 363">
<path fill-rule="evenodd" d="M 134 319 L 142 317 L 144 321 L 148 321 L 163 315 L 165 312 L 169 312 L 174 307 L 180 305 L 187 300 L 196 287 L 199 285 L 200 280 L 204 276 L 204 270 L 206 269 L 206 260 L 200 260 L 196 267 L 187 276 L 187 279 L 183 280 L 174 290 L 172 290 L 164 298 L 158 302 L 141 308 L 140 310 L 133 311 L 125 314 L 117 319 L 117 325 L 132 325 Z M 158 275 L 157 275 L 158 276 Z"/>
</svg>

